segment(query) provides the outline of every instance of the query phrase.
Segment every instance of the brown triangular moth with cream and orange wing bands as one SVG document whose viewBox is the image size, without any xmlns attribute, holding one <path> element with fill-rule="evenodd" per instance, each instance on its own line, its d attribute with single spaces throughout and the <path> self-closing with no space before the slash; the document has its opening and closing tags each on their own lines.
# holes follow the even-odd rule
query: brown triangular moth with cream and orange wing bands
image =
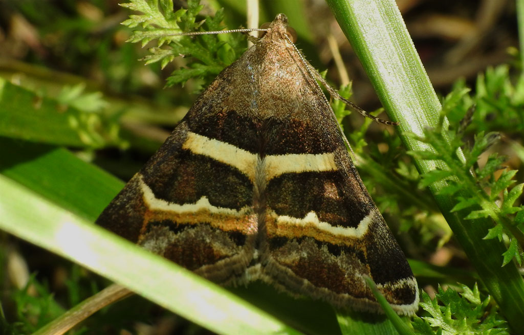
<svg viewBox="0 0 524 335">
<path fill-rule="evenodd" d="M 417 282 L 287 27 L 216 77 L 96 222 L 215 283 L 380 312 L 369 276 L 413 314 Z"/>
</svg>

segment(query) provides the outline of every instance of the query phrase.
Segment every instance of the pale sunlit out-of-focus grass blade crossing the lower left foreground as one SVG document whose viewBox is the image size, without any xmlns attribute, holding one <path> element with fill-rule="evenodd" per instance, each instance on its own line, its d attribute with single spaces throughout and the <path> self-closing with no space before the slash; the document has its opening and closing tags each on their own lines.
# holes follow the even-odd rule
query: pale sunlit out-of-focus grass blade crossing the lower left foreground
<svg viewBox="0 0 524 335">
<path fill-rule="evenodd" d="M 2 230 L 82 264 L 216 333 L 298 333 L 222 287 L 90 224 L 6 176 L 0 175 L 0 189 L 9 195 L 0 202 Z"/>
</svg>

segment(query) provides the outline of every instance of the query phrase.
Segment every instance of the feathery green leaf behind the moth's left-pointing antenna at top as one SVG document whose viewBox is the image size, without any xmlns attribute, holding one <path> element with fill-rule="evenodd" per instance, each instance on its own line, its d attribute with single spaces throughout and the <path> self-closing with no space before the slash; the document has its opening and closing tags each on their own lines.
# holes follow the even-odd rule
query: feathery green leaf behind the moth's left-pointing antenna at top
<svg viewBox="0 0 524 335">
<path fill-rule="evenodd" d="M 124 21 L 124 25 L 134 29 L 128 41 L 141 42 L 142 46 L 153 40 L 157 41 L 157 46 L 150 48 L 150 54 L 143 58 L 146 64 L 160 62 L 161 67 L 165 68 L 176 57 L 187 59 L 190 69 L 174 70 L 166 86 L 183 84 L 190 79 L 203 80 L 203 85 L 208 84 L 245 50 L 245 46 L 241 46 L 239 42 L 244 38 L 239 34 L 227 34 L 226 37 L 180 36 L 182 32 L 193 32 L 203 25 L 206 31 L 220 31 L 225 28 L 222 26 L 223 10 L 218 10 L 214 17 L 196 22 L 196 17 L 203 8 L 199 0 L 189 0 L 188 9 L 180 9 L 174 13 L 172 0 L 130 0 L 122 6 L 143 13 L 131 15 Z"/>
</svg>

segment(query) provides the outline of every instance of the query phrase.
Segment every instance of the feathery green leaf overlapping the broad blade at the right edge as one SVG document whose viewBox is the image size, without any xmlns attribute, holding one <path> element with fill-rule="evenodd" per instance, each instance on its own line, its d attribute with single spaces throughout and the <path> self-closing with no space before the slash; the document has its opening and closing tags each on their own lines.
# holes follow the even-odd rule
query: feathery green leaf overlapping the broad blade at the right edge
<svg viewBox="0 0 524 335">
<path fill-rule="evenodd" d="M 507 72 L 504 69 L 497 68 L 488 72 L 485 80 L 479 79 L 478 85 L 481 92 L 477 94 L 488 96 L 489 92 L 511 91 L 510 88 L 503 87 L 509 83 L 508 77 L 505 77 Z M 506 93 L 511 93 L 509 91 Z M 509 104 L 508 101 L 505 104 Z M 408 153 L 418 159 L 440 160 L 447 165 L 447 169 L 434 170 L 423 174 L 420 186 L 428 186 L 434 182 L 445 180 L 446 185 L 441 187 L 439 195 L 449 195 L 455 198 L 456 204 L 452 208 L 453 212 L 458 213 L 466 210 L 466 213 L 462 214 L 464 219 L 490 217 L 494 220 L 495 227 L 500 226 L 501 228 L 497 227 L 497 229 L 487 232 L 486 239 L 497 237 L 499 240 L 503 240 L 503 237 L 507 236 L 509 240 L 515 241 L 512 243 L 516 244 L 504 256 L 504 264 L 507 264 L 508 259 L 515 258 L 518 261 L 521 258 L 519 253 L 524 247 L 524 233 L 514 227 L 514 218 L 512 218 L 515 213 L 519 214 L 522 210 L 522 206 L 515 205 L 522 194 L 522 186 L 509 189 L 516 182 L 514 177 L 517 171 L 507 170 L 503 165 L 506 158 L 497 153 L 490 154 L 484 166 L 477 166 L 481 154 L 500 137 L 498 132 L 478 131 L 474 136 L 473 143 L 466 146 L 462 140 L 464 136 L 462 132 L 464 129 L 463 122 L 460 122 L 461 125 L 459 126 L 449 126 L 443 121 L 446 113 L 451 113 L 451 111 L 467 118 L 468 113 L 471 112 L 468 106 L 475 103 L 478 103 L 478 100 L 469 96 L 463 86 L 457 86 L 456 92 L 450 93 L 444 99 L 439 126 L 433 129 L 425 129 L 424 136 L 417 137 L 420 141 L 431 145 L 436 153 L 427 151 L 411 151 Z M 504 105 L 501 100 L 498 103 L 500 106 Z M 486 106 L 484 105 L 484 107 Z M 475 117 L 476 114 L 477 111 L 473 116 Z M 447 136 L 443 136 L 443 133 L 446 133 Z M 462 148 L 465 159 L 457 155 L 459 148 Z M 467 210 L 470 210 L 470 212 L 467 213 Z M 524 220 L 524 217 L 522 220 Z"/>
</svg>

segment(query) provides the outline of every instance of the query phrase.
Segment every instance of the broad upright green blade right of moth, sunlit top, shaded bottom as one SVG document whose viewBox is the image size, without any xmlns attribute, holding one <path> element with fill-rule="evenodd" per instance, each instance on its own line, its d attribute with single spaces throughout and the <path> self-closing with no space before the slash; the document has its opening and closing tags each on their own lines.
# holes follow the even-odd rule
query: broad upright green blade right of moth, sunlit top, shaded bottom
<svg viewBox="0 0 524 335">
<path fill-rule="evenodd" d="M 408 150 L 436 152 L 408 133 L 422 136 L 425 127 L 437 127 L 440 102 L 393 0 L 327 0 L 346 37 L 364 65 L 389 117 L 400 122 L 397 130 Z M 447 122 L 445 120 L 445 122 Z M 459 153 L 460 155 L 460 153 Z M 414 160 L 421 174 L 447 169 L 443 162 Z M 468 210 L 452 213 L 456 200 L 439 195 L 444 184 L 429 186 L 455 238 L 468 255 L 484 285 L 514 329 L 524 315 L 524 282 L 514 263 L 500 267 L 505 247 L 483 240 L 490 219 L 464 220 Z M 464 195 L 467 196 L 467 195 Z"/>
</svg>

